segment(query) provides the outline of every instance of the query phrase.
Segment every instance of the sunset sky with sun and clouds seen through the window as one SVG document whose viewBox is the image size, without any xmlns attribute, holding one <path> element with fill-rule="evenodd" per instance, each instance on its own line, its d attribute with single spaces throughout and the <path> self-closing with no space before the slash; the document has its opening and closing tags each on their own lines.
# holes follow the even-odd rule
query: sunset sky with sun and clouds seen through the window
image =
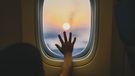
<svg viewBox="0 0 135 76">
<path fill-rule="evenodd" d="M 63 27 L 65 25 L 65 27 Z M 43 5 L 44 41 L 50 51 L 56 52 L 58 34 L 68 28 L 77 37 L 73 52 L 79 54 L 88 43 L 91 27 L 91 7 L 89 0 L 45 0 Z M 80 46 L 81 44 L 81 46 Z M 54 51 L 55 50 L 55 51 Z"/>
</svg>

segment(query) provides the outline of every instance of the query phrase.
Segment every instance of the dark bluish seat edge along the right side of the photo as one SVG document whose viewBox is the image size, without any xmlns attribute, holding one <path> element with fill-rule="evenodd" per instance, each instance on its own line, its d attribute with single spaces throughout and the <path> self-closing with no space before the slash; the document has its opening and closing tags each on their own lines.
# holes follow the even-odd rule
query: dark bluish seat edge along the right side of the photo
<svg viewBox="0 0 135 76">
<path fill-rule="evenodd" d="M 126 54 L 135 72 L 135 0 L 117 0 L 115 13 L 120 38 L 125 44 Z"/>
</svg>

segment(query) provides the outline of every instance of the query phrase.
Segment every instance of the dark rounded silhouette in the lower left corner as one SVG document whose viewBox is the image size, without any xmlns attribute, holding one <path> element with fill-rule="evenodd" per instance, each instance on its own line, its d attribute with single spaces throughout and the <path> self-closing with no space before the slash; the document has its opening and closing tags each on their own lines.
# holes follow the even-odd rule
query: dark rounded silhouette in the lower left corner
<svg viewBox="0 0 135 76">
<path fill-rule="evenodd" d="M 44 76 L 39 50 L 26 43 L 2 49 L 0 76 Z"/>
</svg>

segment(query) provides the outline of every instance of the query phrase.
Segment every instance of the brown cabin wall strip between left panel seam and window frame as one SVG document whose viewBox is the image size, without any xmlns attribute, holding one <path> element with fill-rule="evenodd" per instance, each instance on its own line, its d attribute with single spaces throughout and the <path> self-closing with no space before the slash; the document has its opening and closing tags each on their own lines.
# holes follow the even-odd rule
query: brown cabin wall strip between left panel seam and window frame
<svg viewBox="0 0 135 76">
<path fill-rule="evenodd" d="M 22 42 L 36 45 L 35 1 L 21 0 L 22 9 Z"/>
</svg>

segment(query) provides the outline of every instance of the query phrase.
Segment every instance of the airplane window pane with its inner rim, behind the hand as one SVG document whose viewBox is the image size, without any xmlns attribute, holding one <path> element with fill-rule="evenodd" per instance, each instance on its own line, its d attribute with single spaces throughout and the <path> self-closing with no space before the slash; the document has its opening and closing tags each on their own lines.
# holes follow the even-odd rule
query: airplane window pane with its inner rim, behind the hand
<svg viewBox="0 0 135 76">
<path fill-rule="evenodd" d="M 94 41 L 93 0 L 44 0 L 40 20 L 40 40 L 43 53 L 63 59 L 55 44 L 60 44 L 58 34 L 72 32 L 76 37 L 73 58 L 90 53 Z"/>
</svg>

